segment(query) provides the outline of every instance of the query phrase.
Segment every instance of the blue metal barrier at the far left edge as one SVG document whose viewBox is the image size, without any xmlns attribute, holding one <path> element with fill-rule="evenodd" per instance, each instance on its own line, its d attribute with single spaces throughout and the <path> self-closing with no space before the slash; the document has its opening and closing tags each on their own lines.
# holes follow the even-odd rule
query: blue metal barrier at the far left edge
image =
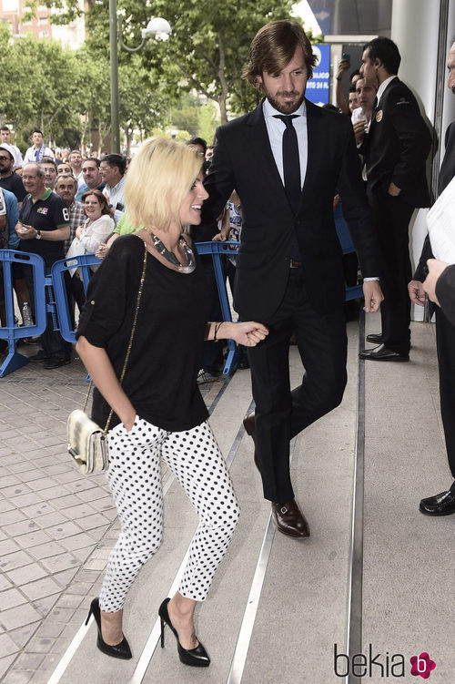
<svg viewBox="0 0 455 684">
<path fill-rule="evenodd" d="M 23 337 L 34 337 L 45 332 L 45 262 L 37 254 L 28 254 L 24 251 L 15 250 L 0 250 L 0 261 L 3 263 L 6 309 L 6 325 L 0 327 L 0 339 L 8 341 L 8 353 L 5 361 L 0 366 L 0 378 L 3 378 L 8 373 L 12 373 L 17 368 L 22 368 L 22 366 L 28 363 L 28 359 L 24 354 L 15 351 L 17 340 Z M 12 276 L 12 266 L 15 262 L 33 269 L 35 325 L 15 325 Z"/>
</svg>

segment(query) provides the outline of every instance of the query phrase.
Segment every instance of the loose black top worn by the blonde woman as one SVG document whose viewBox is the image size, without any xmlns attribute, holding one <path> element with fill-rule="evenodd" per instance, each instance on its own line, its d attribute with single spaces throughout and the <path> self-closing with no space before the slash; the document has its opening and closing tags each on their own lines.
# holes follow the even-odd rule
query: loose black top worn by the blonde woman
<svg viewBox="0 0 455 684">
<path fill-rule="evenodd" d="M 196 256 L 197 259 L 197 256 Z M 76 337 L 106 349 L 117 377 L 125 362 L 144 242 L 118 238 L 89 283 Z M 207 419 L 197 387 L 202 342 L 210 311 L 204 271 L 179 273 L 147 254 L 147 271 L 136 333 L 123 388 L 140 418 L 169 432 L 189 430 Z M 104 427 L 109 407 L 97 390 L 92 418 Z M 110 426 L 119 423 L 113 414 Z"/>
</svg>

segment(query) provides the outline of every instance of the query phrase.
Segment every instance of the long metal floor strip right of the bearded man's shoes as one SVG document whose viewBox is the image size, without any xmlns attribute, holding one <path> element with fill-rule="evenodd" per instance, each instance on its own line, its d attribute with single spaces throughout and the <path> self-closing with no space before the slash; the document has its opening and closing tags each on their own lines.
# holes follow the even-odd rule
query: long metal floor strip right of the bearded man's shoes
<svg viewBox="0 0 455 684">
<path fill-rule="evenodd" d="M 365 347 L 365 313 L 359 316 L 359 351 Z M 349 597 L 347 651 L 349 658 L 362 652 L 363 598 L 363 502 L 365 474 L 365 362 L 359 358 L 357 381 L 356 446 L 354 454 L 354 488 L 349 553 Z M 361 679 L 349 673 L 346 684 L 359 684 Z"/>
</svg>

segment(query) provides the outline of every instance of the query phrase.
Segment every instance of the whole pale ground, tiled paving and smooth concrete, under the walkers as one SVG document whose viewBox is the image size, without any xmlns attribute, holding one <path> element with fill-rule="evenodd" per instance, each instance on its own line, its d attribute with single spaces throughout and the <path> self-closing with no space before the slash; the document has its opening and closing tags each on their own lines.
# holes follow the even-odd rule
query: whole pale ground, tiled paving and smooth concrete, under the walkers
<svg viewBox="0 0 455 684">
<path fill-rule="evenodd" d="M 369 331 L 377 332 L 377 318 Z M 375 325 L 376 323 L 376 325 Z M 358 326 L 349 323 L 349 384 L 343 403 L 293 444 L 292 474 L 312 536 L 302 542 L 272 537 L 258 612 L 246 645 L 243 684 L 331 684 L 333 648 L 346 652 L 350 512 L 355 446 Z M 450 596 L 455 589 L 455 516 L 430 519 L 420 497 L 442 491 L 450 473 L 441 434 L 434 327 L 413 325 L 411 362 L 367 362 L 363 653 L 409 659 L 428 651 L 437 668 L 432 684 L 450 684 L 455 671 Z M 31 352 L 33 349 L 31 349 Z M 291 349 L 292 384 L 301 366 Z M 66 454 L 67 414 L 82 405 L 86 373 L 78 361 L 55 371 L 41 364 L 0 380 L 0 679 L 45 684 L 86 618 L 116 541 L 116 513 L 104 475 L 80 475 Z M 167 630 L 166 648 L 151 652 L 144 682 L 203 679 L 222 684 L 248 607 L 248 595 L 268 525 L 252 464 L 252 443 L 241 428 L 251 401 L 249 373 L 202 386 L 220 447 L 241 505 L 238 530 L 207 602 L 197 608 L 197 631 L 212 658 L 208 670 L 185 668 Z M 96 649 L 88 628 L 62 684 L 126 684 L 167 596 L 196 526 L 176 482 L 164 474 L 165 538 L 141 571 L 126 606 L 131 661 Z M 85 635 L 84 635 L 85 636 Z M 381 682 L 379 669 L 364 681 Z"/>
</svg>

